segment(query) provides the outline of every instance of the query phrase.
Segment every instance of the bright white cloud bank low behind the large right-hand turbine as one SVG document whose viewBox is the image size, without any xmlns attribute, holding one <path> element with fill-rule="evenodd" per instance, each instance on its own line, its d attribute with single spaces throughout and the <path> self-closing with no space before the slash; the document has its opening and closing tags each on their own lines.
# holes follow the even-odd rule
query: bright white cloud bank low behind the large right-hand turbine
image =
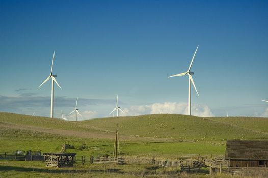
<svg viewBox="0 0 268 178">
<path fill-rule="evenodd" d="M 127 115 L 159 114 L 159 113 L 186 115 L 188 113 L 188 104 L 176 103 L 176 102 L 154 103 L 151 105 L 144 105 L 144 106 L 131 106 L 129 109 L 124 109 L 124 112 Z M 211 112 L 208 106 L 200 104 L 192 104 L 192 115 L 200 117 L 214 116 L 214 114 Z"/>
</svg>

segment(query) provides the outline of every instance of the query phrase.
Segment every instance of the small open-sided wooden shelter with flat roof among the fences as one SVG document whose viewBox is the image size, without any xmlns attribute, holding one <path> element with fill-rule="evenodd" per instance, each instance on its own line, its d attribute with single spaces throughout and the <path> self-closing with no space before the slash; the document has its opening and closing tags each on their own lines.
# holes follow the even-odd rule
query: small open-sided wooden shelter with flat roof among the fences
<svg viewBox="0 0 268 178">
<path fill-rule="evenodd" d="M 71 167 L 76 153 L 44 153 L 46 166 Z"/>
</svg>

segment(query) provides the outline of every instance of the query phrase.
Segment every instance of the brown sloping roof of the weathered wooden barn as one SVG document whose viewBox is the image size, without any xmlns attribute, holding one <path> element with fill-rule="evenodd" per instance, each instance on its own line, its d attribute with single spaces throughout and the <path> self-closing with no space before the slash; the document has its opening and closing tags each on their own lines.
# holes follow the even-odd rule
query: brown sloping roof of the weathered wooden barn
<svg viewBox="0 0 268 178">
<path fill-rule="evenodd" d="M 268 140 L 227 140 L 225 159 L 268 160 Z"/>
</svg>

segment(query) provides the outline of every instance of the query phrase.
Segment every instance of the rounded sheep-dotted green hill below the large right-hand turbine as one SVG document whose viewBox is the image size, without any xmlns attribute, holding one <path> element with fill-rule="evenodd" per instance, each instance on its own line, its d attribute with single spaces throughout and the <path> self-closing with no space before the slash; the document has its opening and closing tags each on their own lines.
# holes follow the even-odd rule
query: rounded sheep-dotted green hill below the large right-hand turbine
<svg viewBox="0 0 268 178">
<path fill-rule="evenodd" d="M 195 141 L 268 138 L 268 120 L 266 118 L 201 118 L 179 114 L 155 114 L 102 118 L 81 123 L 106 130 L 115 130 L 116 124 L 118 124 L 121 134 L 139 137 Z"/>
</svg>

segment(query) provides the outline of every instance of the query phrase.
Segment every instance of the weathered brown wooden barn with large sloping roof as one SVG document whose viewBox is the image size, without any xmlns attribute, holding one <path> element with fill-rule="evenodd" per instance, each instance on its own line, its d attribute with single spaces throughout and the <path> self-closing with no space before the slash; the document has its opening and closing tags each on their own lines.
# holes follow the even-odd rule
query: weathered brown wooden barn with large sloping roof
<svg viewBox="0 0 268 178">
<path fill-rule="evenodd" d="M 225 159 L 230 167 L 267 167 L 268 140 L 227 140 Z"/>
</svg>

